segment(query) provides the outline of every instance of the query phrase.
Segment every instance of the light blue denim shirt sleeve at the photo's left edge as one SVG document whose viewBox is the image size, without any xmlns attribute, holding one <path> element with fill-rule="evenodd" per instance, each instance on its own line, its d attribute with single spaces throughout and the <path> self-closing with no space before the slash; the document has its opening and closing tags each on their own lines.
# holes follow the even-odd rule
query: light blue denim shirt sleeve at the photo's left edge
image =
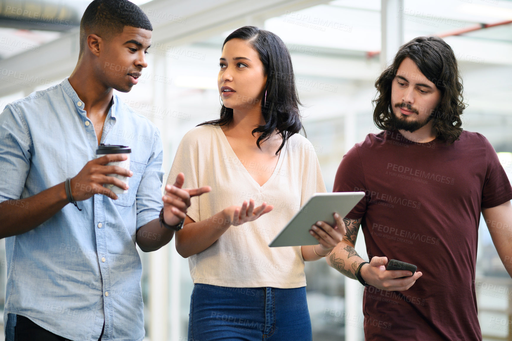
<svg viewBox="0 0 512 341">
<path fill-rule="evenodd" d="M 19 199 L 30 170 L 32 139 L 27 124 L 11 106 L 0 114 L 0 202 Z M 8 175 L 8 176 L 7 176 Z"/>
</svg>

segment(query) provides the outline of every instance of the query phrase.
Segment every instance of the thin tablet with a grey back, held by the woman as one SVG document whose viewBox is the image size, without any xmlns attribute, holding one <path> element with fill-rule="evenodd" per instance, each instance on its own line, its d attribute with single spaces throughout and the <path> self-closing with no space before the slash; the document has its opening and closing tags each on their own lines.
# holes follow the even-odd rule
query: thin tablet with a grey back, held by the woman
<svg viewBox="0 0 512 341">
<path fill-rule="evenodd" d="M 364 196 L 365 192 L 313 194 L 268 246 L 318 244 L 318 240 L 309 233 L 311 226 L 319 221 L 334 225 L 334 217 L 332 216 L 334 212 L 342 217 L 346 216 Z"/>
</svg>

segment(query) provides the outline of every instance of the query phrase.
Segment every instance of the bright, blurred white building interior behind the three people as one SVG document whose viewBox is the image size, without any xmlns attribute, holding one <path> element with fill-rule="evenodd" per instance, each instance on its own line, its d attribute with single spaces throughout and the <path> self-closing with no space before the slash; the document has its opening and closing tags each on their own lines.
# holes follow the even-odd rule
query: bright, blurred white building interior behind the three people
<svg viewBox="0 0 512 341">
<path fill-rule="evenodd" d="M 15 99 L 61 82 L 72 72 L 78 55 L 79 21 L 88 3 L 0 2 L 2 109 Z M 162 132 L 165 171 L 172 165 L 181 137 L 219 114 L 216 82 L 224 38 L 234 29 L 254 25 L 278 34 L 290 50 L 297 89 L 305 105 L 304 126 L 328 190 L 344 153 L 368 133 L 378 132 L 371 104 L 375 78 L 401 44 L 431 34 L 443 36 L 457 56 L 469 105 L 463 128 L 484 134 L 500 153 L 507 174 L 512 174 L 512 1 L 135 3 L 154 25 L 153 46 L 139 84 L 130 93 L 119 95 Z M 48 138 L 58 133 L 51 132 Z M 512 281 L 483 219 L 479 233 L 477 294 L 484 340 L 511 340 Z M 4 240 L 0 248 L 3 308 Z M 356 250 L 366 257 L 362 233 Z M 157 252 L 140 255 L 147 340 L 186 340 L 193 287 L 187 260 L 177 254 L 174 240 Z M 329 268 L 324 260 L 306 264 L 306 274 L 313 339 L 362 340 L 362 286 Z"/>
</svg>

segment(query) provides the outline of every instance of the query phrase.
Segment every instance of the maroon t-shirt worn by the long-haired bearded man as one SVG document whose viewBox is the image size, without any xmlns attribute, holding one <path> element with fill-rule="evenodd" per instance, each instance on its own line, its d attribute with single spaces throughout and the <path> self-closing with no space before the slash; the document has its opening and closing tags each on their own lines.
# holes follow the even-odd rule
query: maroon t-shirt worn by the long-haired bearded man
<svg viewBox="0 0 512 341">
<path fill-rule="evenodd" d="M 481 340 L 475 294 L 482 208 L 512 199 L 487 139 L 414 143 L 398 131 L 369 134 L 343 157 L 333 192 L 364 191 L 347 215 L 361 220 L 368 256 L 414 264 L 406 291 L 365 288 L 366 340 Z"/>
</svg>

